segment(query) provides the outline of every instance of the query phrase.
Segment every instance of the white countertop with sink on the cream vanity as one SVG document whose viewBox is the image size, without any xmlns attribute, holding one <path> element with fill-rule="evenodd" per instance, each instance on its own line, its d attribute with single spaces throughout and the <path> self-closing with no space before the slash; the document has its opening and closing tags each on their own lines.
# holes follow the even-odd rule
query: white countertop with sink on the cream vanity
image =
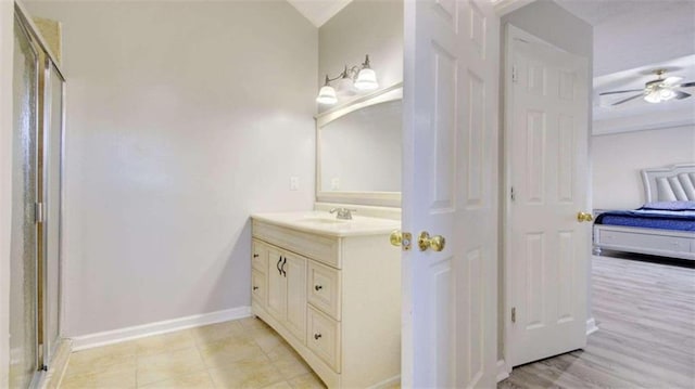
<svg viewBox="0 0 695 389">
<path fill-rule="evenodd" d="M 352 220 L 340 220 L 325 211 L 253 213 L 257 221 L 289 229 L 329 236 L 361 236 L 388 234 L 401 228 L 400 220 L 354 215 Z"/>
</svg>

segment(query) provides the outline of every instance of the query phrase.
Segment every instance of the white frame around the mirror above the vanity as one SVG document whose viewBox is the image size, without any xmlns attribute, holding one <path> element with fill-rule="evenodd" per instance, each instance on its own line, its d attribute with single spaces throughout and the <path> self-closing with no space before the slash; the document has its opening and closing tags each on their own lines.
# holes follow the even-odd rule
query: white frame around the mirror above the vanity
<svg viewBox="0 0 695 389">
<path fill-rule="evenodd" d="M 350 102 L 323 112 L 314 119 L 316 121 L 316 202 L 343 203 L 367 206 L 401 207 L 401 192 L 359 192 L 359 191 L 321 191 L 321 129 L 357 109 L 403 100 L 403 82 L 379 89 L 372 93 L 356 98 Z"/>
</svg>

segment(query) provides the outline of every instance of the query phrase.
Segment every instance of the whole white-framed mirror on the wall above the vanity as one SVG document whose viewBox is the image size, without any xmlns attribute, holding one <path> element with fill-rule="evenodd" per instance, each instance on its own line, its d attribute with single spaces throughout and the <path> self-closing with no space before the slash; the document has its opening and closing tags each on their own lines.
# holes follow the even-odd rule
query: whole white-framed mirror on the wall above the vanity
<svg viewBox="0 0 695 389">
<path fill-rule="evenodd" d="M 401 206 L 403 83 L 316 116 L 316 200 Z"/>
</svg>

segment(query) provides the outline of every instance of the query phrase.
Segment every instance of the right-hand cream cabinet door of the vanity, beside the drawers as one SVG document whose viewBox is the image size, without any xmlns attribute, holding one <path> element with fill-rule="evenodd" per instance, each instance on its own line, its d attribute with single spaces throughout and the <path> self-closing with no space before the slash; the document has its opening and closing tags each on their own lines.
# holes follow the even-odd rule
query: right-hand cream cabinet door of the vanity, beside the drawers
<svg viewBox="0 0 695 389">
<path fill-rule="evenodd" d="M 306 258 L 282 254 L 287 281 L 287 328 L 304 342 L 306 337 Z"/>
</svg>

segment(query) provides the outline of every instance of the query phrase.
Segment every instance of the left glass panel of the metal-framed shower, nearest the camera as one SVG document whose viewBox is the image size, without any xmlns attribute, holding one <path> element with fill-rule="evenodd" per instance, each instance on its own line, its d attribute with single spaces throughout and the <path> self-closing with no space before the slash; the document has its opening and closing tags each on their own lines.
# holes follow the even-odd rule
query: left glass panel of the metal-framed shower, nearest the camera
<svg viewBox="0 0 695 389">
<path fill-rule="evenodd" d="M 27 388 L 38 362 L 37 133 L 38 53 L 14 20 L 14 124 L 10 286 L 10 387 Z"/>
</svg>

